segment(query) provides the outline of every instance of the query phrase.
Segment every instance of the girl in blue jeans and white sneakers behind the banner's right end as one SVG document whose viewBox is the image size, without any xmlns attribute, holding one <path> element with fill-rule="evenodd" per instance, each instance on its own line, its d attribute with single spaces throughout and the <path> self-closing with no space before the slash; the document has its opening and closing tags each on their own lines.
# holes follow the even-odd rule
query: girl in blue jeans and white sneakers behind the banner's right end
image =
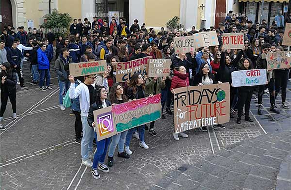
<svg viewBox="0 0 291 190">
<path fill-rule="evenodd" d="M 127 91 L 127 96 L 131 100 L 136 100 L 139 98 L 144 98 L 145 96 L 145 86 L 144 86 L 144 79 L 141 73 L 135 73 L 132 75 L 129 83 L 129 89 Z M 130 141 L 132 138 L 132 134 L 138 130 L 138 135 L 134 134 L 137 139 L 140 140 L 139 146 L 148 149 L 145 142 L 145 125 L 141 125 L 132 129 L 128 130 L 128 134 L 126 135 L 125 141 L 125 152 L 128 155 L 132 154 L 132 151 L 129 149 Z"/>
</svg>

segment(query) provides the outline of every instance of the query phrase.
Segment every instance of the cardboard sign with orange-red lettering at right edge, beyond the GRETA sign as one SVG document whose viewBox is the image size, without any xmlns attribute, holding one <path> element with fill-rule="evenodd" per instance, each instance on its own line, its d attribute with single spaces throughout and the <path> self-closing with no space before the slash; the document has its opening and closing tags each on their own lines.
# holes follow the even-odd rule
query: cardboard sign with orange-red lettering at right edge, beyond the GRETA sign
<svg viewBox="0 0 291 190">
<path fill-rule="evenodd" d="M 270 52 L 267 54 L 267 69 L 290 68 L 291 51 Z"/>
</svg>

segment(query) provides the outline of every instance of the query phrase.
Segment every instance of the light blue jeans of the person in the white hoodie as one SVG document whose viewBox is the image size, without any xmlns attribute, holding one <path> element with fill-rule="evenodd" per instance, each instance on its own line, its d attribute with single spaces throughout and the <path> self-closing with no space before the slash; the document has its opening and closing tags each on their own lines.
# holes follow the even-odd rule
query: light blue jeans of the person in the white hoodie
<svg viewBox="0 0 291 190">
<path fill-rule="evenodd" d="M 89 151 L 93 150 L 94 129 L 89 126 L 88 117 L 81 116 L 83 125 L 83 138 L 81 142 L 82 160 L 88 159 Z"/>
</svg>

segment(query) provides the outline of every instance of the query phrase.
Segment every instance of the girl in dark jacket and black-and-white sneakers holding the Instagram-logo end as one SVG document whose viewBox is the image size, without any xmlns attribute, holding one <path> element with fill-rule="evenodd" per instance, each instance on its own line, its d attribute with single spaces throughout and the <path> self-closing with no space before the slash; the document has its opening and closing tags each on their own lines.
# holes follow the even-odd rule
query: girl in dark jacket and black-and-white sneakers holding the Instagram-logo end
<svg viewBox="0 0 291 190">
<path fill-rule="evenodd" d="M 88 123 L 89 123 L 89 126 L 91 127 L 95 127 L 95 124 L 96 124 L 94 122 L 93 112 L 95 110 L 111 106 L 111 103 L 108 100 L 106 100 L 107 91 L 104 86 L 97 86 L 94 91 L 93 97 L 94 97 L 94 103 L 90 106 L 90 109 L 88 112 Z M 98 141 L 96 132 L 94 132 L 94 135 L 96 139 L 97 151 L 95 152 L 95 155 L 93 158 L 93 165 L 92 165 L 91 173 L 94 179 L 100 179 L 100 175 L 97 172 L 97 166 L 98 166 L 98 170 L 101 170 L 105 173 L 109 172 L 109 168 L 104 164 L 104 160 L 105 160 L 105 156 L 107 153 L 107 149 L 108 149 L 111 137 Z"/>
</svg>

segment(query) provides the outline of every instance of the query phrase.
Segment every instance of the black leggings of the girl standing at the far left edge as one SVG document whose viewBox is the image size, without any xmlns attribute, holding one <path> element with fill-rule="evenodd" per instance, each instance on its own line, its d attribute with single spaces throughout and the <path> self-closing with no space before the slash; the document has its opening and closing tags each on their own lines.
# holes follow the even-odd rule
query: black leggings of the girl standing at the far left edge
<svg viewBox="0 0 291 190">
<path fill-rule="evenodd" d="M 1 117 L 3 117 L 6 110 L 8 97 L 12 105 L 12 111 L 13 113 L 16 113 L 16 89 L 13 89 L 11 92 L 4 89 L 1 91 Z"/>
</svg>

